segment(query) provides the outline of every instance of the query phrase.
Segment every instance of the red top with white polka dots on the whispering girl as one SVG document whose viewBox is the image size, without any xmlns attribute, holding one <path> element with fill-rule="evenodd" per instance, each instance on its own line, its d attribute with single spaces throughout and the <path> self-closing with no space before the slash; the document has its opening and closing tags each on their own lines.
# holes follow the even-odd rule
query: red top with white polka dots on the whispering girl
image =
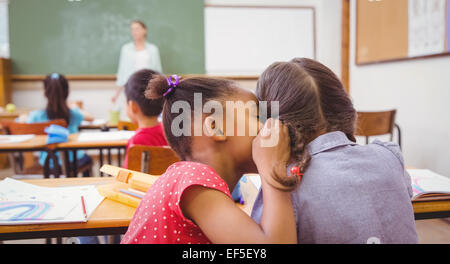
<svg viewBox="0 0 450 264">
<path fill-rule="evenodd" d="M 228 185 L 213 168 L 197 162 L 177 162 L 147 191 L 121 243 L 210 244 L 201 229 L 181 212 L 181 195 L 192 185 L 216 189 L 231 199 Z"/>
</svg>

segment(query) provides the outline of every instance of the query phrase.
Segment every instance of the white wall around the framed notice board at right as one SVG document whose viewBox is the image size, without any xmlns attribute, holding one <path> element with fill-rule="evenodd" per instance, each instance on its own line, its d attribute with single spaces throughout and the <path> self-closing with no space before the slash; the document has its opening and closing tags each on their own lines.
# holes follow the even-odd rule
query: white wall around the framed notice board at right
<svg viewBox="0 0 450 264">
<path fill-rule="evenodd" d="M 408 166 L 450 177 L 450 57 L 355 65 L 351 0 L 350 93 L 358 110 L 397 109 Z"/>
</svg>

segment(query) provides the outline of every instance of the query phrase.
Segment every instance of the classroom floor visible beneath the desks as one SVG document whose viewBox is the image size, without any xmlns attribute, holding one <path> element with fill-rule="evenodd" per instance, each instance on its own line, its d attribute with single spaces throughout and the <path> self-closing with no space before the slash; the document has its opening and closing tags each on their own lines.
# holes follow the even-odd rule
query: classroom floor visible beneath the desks
<svg viewBox="0 0 450 264">
<path fill-rule="evenodd" d="M 95 170 L 94 170 L 95 171 Z M 0 180 L 13 175 L 11 169 L 0 170 Z M 450 219 L 431 219 L 416 221 L 420 244 L 450 244 Z M 104 242 L 101 237 L 100 241 Z M 63 243 L 71 240 L 64 238 Z M 1 242 L 0 242 L 1 243 Z M 43 244 L 45 239 L 3 241 L 5 244 Z"/>
</svg>

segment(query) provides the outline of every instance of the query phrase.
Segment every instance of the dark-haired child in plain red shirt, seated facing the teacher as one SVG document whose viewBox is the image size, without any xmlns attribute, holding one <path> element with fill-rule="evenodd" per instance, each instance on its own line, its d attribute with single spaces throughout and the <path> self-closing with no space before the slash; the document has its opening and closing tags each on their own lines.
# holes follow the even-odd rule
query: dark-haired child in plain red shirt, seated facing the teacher
<svg viewBox="0 0 450 264">
<path fill-rule="evenodd" d="M 128 141 L 132 145 L 167 146 L 166 138 L 158 117 L 162 111 L 163 99 L 145 98 L 145 89 L 152 77 L 157 74 L 152 70 L 140 70 L 134 73 L 125 84 L 127 98 L 127 115 L 131 122 L 138 125 L 136 134 Z M 124 168 L 128 167 L 128 153 Z"/>
</svg>

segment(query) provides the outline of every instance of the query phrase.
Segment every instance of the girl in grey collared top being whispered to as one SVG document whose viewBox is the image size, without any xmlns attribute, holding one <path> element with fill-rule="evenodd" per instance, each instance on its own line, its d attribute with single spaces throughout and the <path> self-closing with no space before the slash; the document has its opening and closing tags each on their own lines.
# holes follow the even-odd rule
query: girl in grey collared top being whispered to
<svg viewBox="0 0 450 264">
<path fill-rule="evenodd" d="M 291 165 L 299 243 L 417 243 L 411 180 L 397 144 L 360 146 L 356 111 L 336 75 L 310 59 L 277 62 L 261 75 L 260 101 L 279 102 Z M 270 107 L 269 107 L 270 109 Z M 252 217 L 261 217 L 263 194 Z"/>
</svg>

